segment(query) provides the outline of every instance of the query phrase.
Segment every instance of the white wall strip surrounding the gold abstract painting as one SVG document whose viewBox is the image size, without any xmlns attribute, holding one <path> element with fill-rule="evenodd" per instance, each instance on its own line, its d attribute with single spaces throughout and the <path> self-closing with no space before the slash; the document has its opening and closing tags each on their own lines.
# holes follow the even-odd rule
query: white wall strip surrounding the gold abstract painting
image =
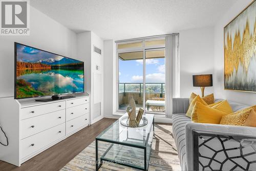
<svg viewBox="0 0 256 171">
<path fill-rule="evenodd" d="M 238 1 L 234 4 L 214 28 L 214 92 L 218 98 L 229 99 L 246 104 L 256 103 L 256 94 L 249 92 L 237 92 L 224 90 L 224 27 L 236 17 L 244 8 L 251 3 L 251 0 Z"/>
</svg>

